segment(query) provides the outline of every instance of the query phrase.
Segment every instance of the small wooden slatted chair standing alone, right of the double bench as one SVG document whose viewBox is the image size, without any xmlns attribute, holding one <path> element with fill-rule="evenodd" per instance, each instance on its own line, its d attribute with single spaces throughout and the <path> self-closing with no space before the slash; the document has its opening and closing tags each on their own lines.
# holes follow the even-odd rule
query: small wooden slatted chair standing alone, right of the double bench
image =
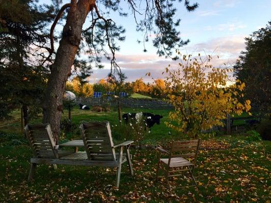
<svg viewBox="0 0 271 203">
<path fill-rule="evenodd" d="M 197 186 L 197 182 L 193 175 L 194 166 L 196 162 L 196 157 L 199 149 L 200 140 L 192 140 L 192 141 L 172 141 L 170 152 L 163 149 L 162 147 L 157 147 L 159 153 L 159 161 L 158 168 L 156 174 L 156 181 L 159 176 L 160 165 L 164 166 L 166 183 L 170 187 L 168 179 L 169 177 L 181 176 L 183 172 L 188 172 L 195 185 Z M 168 158 L 161 158 L 161 154 L 167 154 Z M 180 174 L 175 174 L 180 172 Z"/>
</svg>

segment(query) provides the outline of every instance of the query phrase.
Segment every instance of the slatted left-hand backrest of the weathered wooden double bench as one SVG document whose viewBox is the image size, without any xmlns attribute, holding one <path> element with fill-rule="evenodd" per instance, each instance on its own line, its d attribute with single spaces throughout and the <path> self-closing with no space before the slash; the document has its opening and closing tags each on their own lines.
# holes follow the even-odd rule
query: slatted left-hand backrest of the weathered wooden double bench
<svg viewBox="0 0 271 203">
<path fill-rule="evenodd" d="M 50 124 L 27 124 L 24 131 L 35 158 L 58 158 Z"/>
</svg>

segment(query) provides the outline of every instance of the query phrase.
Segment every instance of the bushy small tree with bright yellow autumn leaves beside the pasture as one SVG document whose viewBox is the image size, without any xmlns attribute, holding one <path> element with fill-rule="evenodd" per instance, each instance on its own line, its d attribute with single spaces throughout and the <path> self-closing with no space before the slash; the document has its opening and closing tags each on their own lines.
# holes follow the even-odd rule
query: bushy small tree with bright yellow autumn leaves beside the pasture
<svg viewBox="0 0 271 203">
<path fill-rule="evenodd" d="M 249 111 L 250 100 L 238 101 L 243 96 L 245 83 L 227 86 L 230 69 L 216 68 L 210 61 L 211 56 L 202 59 L 191 55 L 182 56 L 177 69 L 170 65 L 163 72 L 165 92 L 174 111 L 169 113 L 166 125 L 195 138 L 201 130 L 212 126 L 223 126 L 227 114 L 242 114 Z"/>
</svg>

